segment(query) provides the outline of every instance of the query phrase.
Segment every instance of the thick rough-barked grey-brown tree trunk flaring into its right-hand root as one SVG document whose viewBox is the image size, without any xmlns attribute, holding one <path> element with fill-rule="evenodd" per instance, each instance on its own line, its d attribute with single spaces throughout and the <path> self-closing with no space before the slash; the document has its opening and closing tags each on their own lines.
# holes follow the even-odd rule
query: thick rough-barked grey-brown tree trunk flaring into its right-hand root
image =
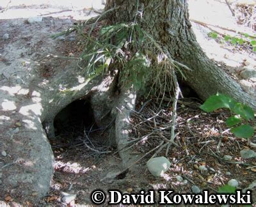
<svg viewBox="0 0 256 207">
<path fill-rule="evenodd" d="M 191 68 L 184 70 L 186 81 L 198 96 L 205 100 L 210 95 L 224 93 L 256 109 L 256 95 L 244 91 L 236 81 L 205 55 L 196 42 L 189 22 L 187 1 L 184 0 L 109 0 L 106 10 L 120 6 L 109 19 L 132 22 L 134 14 L 143 12 L 141 27 L 168 49 L 172 57 Z M 138 5 L 138 6 L 137 6 Z"/>
</svg>

